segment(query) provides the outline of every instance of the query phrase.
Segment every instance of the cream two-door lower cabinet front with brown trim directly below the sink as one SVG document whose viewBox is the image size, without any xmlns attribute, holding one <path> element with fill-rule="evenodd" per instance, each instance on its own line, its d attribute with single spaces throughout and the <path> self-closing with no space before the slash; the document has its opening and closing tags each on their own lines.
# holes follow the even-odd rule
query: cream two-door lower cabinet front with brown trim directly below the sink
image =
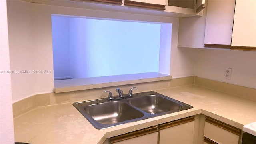
<svg viewBox="0 0 256 144">
<path fill-rule="evenodd" d="M 109 139 L 110 144 L 193 144 L 195 116 L 144 128 Z"/>
</svg>

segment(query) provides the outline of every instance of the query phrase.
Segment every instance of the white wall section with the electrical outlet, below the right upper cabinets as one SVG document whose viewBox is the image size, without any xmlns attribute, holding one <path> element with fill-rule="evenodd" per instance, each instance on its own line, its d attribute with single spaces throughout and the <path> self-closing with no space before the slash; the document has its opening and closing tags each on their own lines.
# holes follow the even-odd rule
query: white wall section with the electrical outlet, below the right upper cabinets
<svg viewBox="0 0 256 144">
<path fill-rule="evenodd" d="M 256 88 L 256 52 L 194 49 L 195 76 Z M 224 78 L 232 68 L 231 80 Z"/>
</svg>

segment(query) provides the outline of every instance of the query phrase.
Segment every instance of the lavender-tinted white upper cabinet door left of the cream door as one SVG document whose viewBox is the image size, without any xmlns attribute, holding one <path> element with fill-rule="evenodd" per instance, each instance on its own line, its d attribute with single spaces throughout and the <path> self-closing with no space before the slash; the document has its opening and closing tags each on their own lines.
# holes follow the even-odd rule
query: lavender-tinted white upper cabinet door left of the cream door
<svg viewBox="0 0 256 144">
<path fill-rule="evenodd" d="M 235 0 L 208 0 L 204 44 L 231 45 Z"/>
</svg>

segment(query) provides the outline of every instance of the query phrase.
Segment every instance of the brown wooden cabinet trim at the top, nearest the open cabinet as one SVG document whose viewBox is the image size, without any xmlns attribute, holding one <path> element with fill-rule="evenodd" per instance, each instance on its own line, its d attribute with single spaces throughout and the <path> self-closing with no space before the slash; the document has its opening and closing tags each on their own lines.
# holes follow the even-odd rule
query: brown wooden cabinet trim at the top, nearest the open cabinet
<svg viewBox="0 0 256 144">
<path fill-rule="evenodd" d="M 143 8 L 154 8 L 158 10 L 165 10 L 165 5 L 161 4 L 150 4 L 146 2 L 136 2 L 132 0 L 124 0 L 124 5 L 127 6 L 138 6 L 138 7 L 143 7 Z"/>
</svg>

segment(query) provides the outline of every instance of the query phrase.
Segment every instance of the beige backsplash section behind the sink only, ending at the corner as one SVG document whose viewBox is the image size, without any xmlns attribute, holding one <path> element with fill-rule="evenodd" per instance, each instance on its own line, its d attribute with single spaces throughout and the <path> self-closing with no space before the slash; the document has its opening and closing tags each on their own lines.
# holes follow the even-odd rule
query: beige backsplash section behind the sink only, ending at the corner
<svg viewBox="0 0 256 144">
<path fill-rule="evenodd" d="M 153 91 L 163 88 L 171 88 L 178 86 L 186 86 L 194 84 L 194 76 L 183 77 L 183 78 L 174 78 L 172 80 L 163 80 L 156 82 L 145 82 L 140 84 L 129 84 L 120 86 L 124 91 L 124 94 L 127 94 L 130 88 L 136 86 L 137 88 L 133 90 L 134 93 L 138 92 L 146 92 Z M 39 106 L 48 106 L 53 104 L 61 104 L 66 102 L 77 102 L 83 100 L 94 100 L 99 98 L 106 98 L 108 94 L 104 93 L 104 90 L 108 90 L 113 92 L 113 95 L 117 95 L 115 93 L 116 86 L 107 87 L 107 88 L 96 88 L 90 90 L 79 90 L 74 92 L 63 92 L 63 93 L 45 93 L 45 94 L 37 94 L 34 96 L 30 96 L 18 102 L 12 104 L 13 106 L 13 116 L 16 118 L 21 114 L 33 110 Z"/>
</svg>

